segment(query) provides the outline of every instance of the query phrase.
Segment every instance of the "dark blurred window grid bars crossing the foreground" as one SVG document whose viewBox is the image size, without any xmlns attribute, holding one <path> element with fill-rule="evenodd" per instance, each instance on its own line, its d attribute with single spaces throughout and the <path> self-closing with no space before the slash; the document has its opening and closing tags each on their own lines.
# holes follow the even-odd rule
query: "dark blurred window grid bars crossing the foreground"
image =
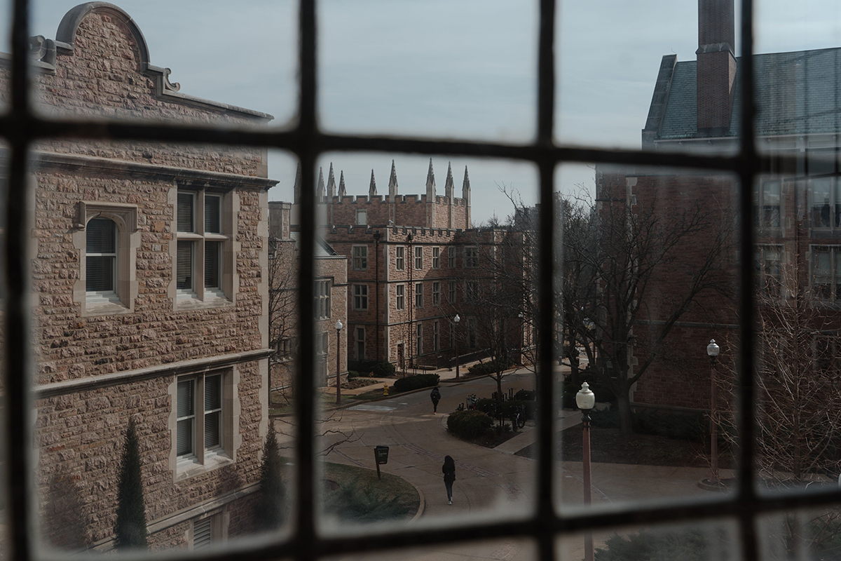
<svg viewBox="0 0 841 561">
<path fill-rule="evenodd" d="M 336 135 L 325 134 L 316 122 L 317 66 L 316 66 L 316 3 L 315 0 L 300 0 L 299 4 L 299 112 L 297 122 L 288 130 L 227 130 L 208 129 L 196 124 L 151 124 L 108 121 L 104 119 L 50 120 L 34 113 L 29 97 L 29 0 L 13 0 L 11 92 L 9 113 L 0 116 L 0 135 L 9 145 L 9 189 L 6 209 L 8 233 L 6 237 L 5 275 L 8 283 L 8 298 L 4 301 L 7 344 L 5 359 L 7 368 L 4 376 L 7 388 L 7 422 L 3 426 L 8 446 L 8 468 L 5 472 L 6 497 L 8 500 L 8 548 L 9 555 L 19 561 L 58 559 L 56 553 L 35 554 L 33 501 L 33 474 L 29 465 L 31 427 L 26 422 L 32 405 L 32 372 L 34 357 L 29 347 L 31 319 L 27 305 L 29 284 L 29 255 L 26 251 L 26 217 L 31 202 L 29 192 L 29 147 L 34 140 L 52 136 L 72 135 L 80 139 L 103 140 L 156 140 L 168 142 L 190 142 L 197 144 L 221 144 L 233 146 L 265 146 L 290 151 L 299 156 L 302 173 L 301 188 L 301 259 L 299 268 L 299 303 L 309 305 L 312 301 L 315 266 L 312 256 L 315 252 L 315 173 L 316 158 L 328 151 L 378 151 L 441 154 L 444 156 L 484 156 L 510 160 L 532 161 L 539 172 L 540 193 L 540 251 L 552 255 L 553 249 L 553 172 L 563 162 L 611 163 L 617 165 L 684 167 L 718 172 L 734 172 L 742 186 L 753 185 L 762 169 L 770 168 L 770 156 L 759 155 L 754 138 L 754 29 L 753 0 L 741 3 L 741 45 L 740 65 L 743 76 L 740 116 L 740 130 L 750 131 L 739 139 L 739 150 L 733 156 L 703 156 L 674 152 L 647 152 L 636 150 L 609 150 L 586 146 L 553 146 L 555 76 L 555 0 L 538 0 L 539 26 L 537 38 L 537 137 L 531 143 L 508 145 L 501 142 L 452 141 L 417 139 L 412 137 L 385 135 Z M 777 163 L 794 164 L 795 156 L 775 156 Z M 738 208 L 742 216 L 750 216 L 752 209 L 751 188 L 742 188 Z M 310 220 L 307 220 L 310 219 Z M 743 256 L 752 255 L 754 230 L 752 220 L 739 221 L 739 251 Z M 754 342 L 754 271 L 751 259 L 739 263 L 739 314 L 744 319 L 739 325 L 743 349 L 753 347 Z M 542 354 L 538 361 L 539 373 L 551 373 L 551 328 L 553 310 L 551 298 L 553 269 L 551 262 L 542 262 L 538 273 L 537 291 L 547 305 L 541 307 L 538 318 L 538 336 L 541 338 Z M 305 307 L 301 309 L 305 310 Z M 313 333 L 314 319 L 302 315 L 302 333 Z M 301 361 L 297 381 L 303 395 L 315 395 L 314 338 L 302 337 Z M 754 357 L 745 352 L 741 357 L 739 371 L 740 394 L 738 397 L 738 421 L 743 442 L 739 448 L 738 483 L 739 490 L 733 495 L 706 503 L 685 503 L 642 507 L 626 506 L 611 512 L 583 512 L 560 514 L 553 504 L 555 480 L 553 478 L 553 419 L 552 395 L 555 384 L 552 376 L 541 376 L 545 391 L 539 394 L 539 419 L 537 427 L 538 447 L 545 453 L 537 460 L 537 504 L 532 516 L 518 520 L 468 522 L 464 525 L 448 525 L 430 530 L 399 529 L 394 532 L 378 530 L 357 532 L 350 537 L 321 535 L 317 528 L 317 506 L 315 500 L 315 401 L 299 401 L 296 413 L 298 440 L 296 441 L 297 480 L 299 490 L 294 498 L 290 537 L 278 538 L 271 543 L 232 544 L 225 551 L 204 556 L 207 559 L 225 561 L 262 561 L 268 558 L 294 558 L 310 561 L 333 554 L 353 554 L 367 551 L 384 551 L 388 548 L 425 546 L 442 542 L 466 542 L 484 538 L 520 537 L 537 542 L 537 556 L 543 560 L 556 556 L 555 541 L 574 532 L 596 530 L 613 526 L 653 524 L 681 521 L 722 520 L 731 518 L 738 522 L 740 533 L 740 558 L 753 561 L 759 558 L 754 524 L 757 516 L 766 512 L 791 510 L 799 506 L 819 506 L 841 503 L 841 490 L 816 495 L 791 494 L 785 496 L 760 496 L 755 490 L 754 474 L 750 461 L 754 455 Z M 11 375 L 10 373 L 15 373 Z M 29 493 L 19 490 L 29 490 Z M 177 553 L 164 554 L 165 558 L 180 558 Z"/>
</svg>

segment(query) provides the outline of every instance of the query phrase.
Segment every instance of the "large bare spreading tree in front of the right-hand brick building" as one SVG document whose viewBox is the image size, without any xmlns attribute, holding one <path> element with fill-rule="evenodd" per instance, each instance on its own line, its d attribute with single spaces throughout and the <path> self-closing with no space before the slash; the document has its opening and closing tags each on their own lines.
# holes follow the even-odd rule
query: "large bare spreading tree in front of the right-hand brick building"
<svg viewBox="0 0 841 561">
<path fill-rule="evenodd" d="M 624 193 L 623 193 L 624 194 Z M 584 341 L 590 364 L 596 354 L 597 379 L 616 396 L 621 430 L 632 432 L 630 389 L 652 363 L 667 355 L 666 339 L 699 294 L 729 297 L 732 284 L 727 257 L 733 220 L 701 204 L 664 209 L 656 198 L 572 200 L 572 217 L 583 222 L 564 230 L 563 325 L 568 341 Z M 691 258 L 685 257 L 691 252 Z M 661 290 L 665 283 L 669 290 Z M 647 321 L 648 336 L 634 327 Z M 631 357 L 639 357 L 632 367 Z"/>
</svg>

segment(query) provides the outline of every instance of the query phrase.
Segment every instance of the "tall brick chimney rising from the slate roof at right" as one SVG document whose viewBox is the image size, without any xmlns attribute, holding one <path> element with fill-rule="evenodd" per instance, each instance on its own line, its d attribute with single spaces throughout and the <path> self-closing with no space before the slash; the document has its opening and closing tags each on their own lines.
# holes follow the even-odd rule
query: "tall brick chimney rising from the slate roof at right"
<svg viewBox="0 0 841 561">
<path fill-rule="evenodd" d="M 698 0 L 698 135 L 730 130 L 736 56 L 733 0 Z"/>
</svg>

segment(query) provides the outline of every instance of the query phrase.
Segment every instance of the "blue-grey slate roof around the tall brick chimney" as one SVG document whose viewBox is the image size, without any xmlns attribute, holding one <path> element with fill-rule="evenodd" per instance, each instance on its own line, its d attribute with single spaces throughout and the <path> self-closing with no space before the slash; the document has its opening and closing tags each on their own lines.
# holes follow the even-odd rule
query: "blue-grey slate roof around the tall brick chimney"
<svg viewBox="0 0 841 561">
<path fill-rule="evenodd" d="M 756 55 L 754 69 L 757 135 L 841 132 L 841 48 Z M 737 71 L 731 136 L 738 135 L 741 83 Z M 696 61 L 675 64 L 658 140 L 695 137 L 696 91 Z"/>
</svg>

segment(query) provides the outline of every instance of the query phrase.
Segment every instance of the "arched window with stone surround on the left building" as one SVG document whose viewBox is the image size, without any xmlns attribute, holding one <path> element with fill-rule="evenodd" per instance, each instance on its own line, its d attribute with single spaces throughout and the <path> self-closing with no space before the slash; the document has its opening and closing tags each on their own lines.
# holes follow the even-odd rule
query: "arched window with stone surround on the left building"
<svg viewBox="0 0 841 561">
<path fill-rule="evenodd" d="M 85 290 L 92 298 L 117 299 L 117 225 L 114 220 L 93 218 L 87 221 L 85 254 Z"/>
</svg>

